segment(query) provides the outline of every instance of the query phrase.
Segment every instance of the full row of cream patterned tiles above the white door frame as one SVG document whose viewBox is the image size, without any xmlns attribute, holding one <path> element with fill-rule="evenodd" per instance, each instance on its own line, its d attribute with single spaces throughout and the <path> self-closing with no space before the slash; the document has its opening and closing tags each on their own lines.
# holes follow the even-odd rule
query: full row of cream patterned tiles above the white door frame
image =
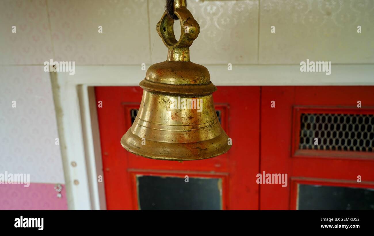
<svg viewBox="0 0 374 236">
<path fill-rule="evenodd" d="M 163 61 L 167 49 L 156 24 L 164 2 L 1 0 L 0 65 L 51 58 L 76 65 Z M 191 46 L 196 63 L 374 63 L 374 0 L 188 0 L 187 8 L 200 24 Z"/>
</svg>

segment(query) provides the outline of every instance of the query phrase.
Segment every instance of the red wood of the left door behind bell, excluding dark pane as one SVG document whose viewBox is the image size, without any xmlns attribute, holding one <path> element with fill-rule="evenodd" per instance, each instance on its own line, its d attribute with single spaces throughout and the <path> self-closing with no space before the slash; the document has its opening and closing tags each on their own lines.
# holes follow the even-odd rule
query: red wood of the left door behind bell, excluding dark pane
<svg viewBox="0 0 374 236">
<path fill-rule="evenodd" d="M 137 175 L 214 177 L 222 180 L 222 209 L 258 209 L 260 87 L 218 87 L 221 123 L 233 146 L 199 161 L 160 161 L 135 156 L 120 145 L 139 107 L 140 87 L 96 87 L 107 209 L 138 209 Z"/>
</svg>

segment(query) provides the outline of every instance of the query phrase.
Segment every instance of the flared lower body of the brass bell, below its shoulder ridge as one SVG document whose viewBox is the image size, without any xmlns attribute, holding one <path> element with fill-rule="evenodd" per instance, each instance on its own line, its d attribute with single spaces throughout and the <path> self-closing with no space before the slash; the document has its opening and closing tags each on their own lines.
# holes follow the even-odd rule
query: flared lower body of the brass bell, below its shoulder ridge
<svg viewBox="0 0 374 236">
<path fill-rule="evenodd" d="M 193 109 L 187 109 L 187 103 Z M 121 143 L 129 152 L 147 158 L 188 161 L 227 152 L 231 147 L 228 138 L 218 121 L 212 94 L 191 98 L 144 91 L 135 122 Z"/>
</svg>

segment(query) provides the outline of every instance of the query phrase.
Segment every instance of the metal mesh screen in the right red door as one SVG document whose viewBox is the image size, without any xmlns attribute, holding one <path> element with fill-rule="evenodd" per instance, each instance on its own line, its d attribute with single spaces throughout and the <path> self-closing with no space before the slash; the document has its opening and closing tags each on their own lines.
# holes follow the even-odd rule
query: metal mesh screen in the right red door
<svg viewBox="0 0 374 236">
<path fill-rule="evenodd" d="M 300 149 L 373 152 L 373 145 L 371 114 L 303 113 L 300 116 Z"/>
</svg>

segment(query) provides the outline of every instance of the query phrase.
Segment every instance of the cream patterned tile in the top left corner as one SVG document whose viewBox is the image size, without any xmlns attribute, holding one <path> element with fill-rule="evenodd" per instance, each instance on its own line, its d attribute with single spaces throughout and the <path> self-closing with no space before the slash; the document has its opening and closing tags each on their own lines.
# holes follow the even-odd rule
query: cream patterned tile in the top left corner
<svg viewBox="0 0 374 236">
<path fill-rule="evenodd" d="M 0 0 L 0 35 L 0 65 L 43 65 L 53 56 L 46 1 Z"/>
</svg>

